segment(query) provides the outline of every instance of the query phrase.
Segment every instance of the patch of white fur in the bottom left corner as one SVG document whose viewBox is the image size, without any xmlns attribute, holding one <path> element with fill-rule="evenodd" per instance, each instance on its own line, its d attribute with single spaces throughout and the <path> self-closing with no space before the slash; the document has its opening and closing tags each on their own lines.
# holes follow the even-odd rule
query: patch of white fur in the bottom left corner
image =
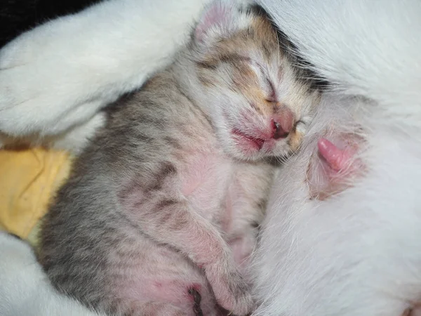
<svg viewBox="0 0 421 316">
<path fill-rule="evenodd" d="M 29 244 L 0 231 L 1 316 L 100 316 L 57 294 Z"/>
</svg>

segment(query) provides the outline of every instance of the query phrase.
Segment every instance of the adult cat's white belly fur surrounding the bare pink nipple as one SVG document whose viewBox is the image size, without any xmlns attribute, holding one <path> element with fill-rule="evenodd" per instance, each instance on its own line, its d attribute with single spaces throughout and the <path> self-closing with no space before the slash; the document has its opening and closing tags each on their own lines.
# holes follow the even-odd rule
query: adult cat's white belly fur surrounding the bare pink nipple
<svg viewBox="0 0 421 316">
<path fill-rule="evenodd" d="M 421 3 L 261 2 L 336 91 L 374 102 L 326 97 L 312 127 L 342 109 L 366 127 L 369 171 L 355 187 L 310 201 L 306 150 L 281 171 L 255 256 L 255 316 L 399 316 L 421 299 Z"/>
</svg>

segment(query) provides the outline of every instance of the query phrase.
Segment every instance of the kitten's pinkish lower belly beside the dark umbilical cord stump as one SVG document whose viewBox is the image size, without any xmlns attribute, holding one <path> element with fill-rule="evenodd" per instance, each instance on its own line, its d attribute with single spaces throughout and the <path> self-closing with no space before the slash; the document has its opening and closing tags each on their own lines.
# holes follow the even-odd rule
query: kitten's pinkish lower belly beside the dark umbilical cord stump
<svg viewBox="0 0 421 316">
<path fill-rule="evenodd" d="M 120 234 L 119 239 L 132 242 L 109 249 L 107 286 L 114 298 L 136 309 L 152 309 L 151 315 L 179 315 L 177 312 L 182 310 L 180 315 L 194 316 L 189 290 L 196 289 L 204 315 L 220 315 L 203 272 L 183 254 L 138 235 L 132 228 L 125 228 Z M 151 303 L 157 305 L 149 306 Z M 162 308 L 159 304 L 167 308 L 159 310 L 161 314 L 155 310 Z"/>
</svg>

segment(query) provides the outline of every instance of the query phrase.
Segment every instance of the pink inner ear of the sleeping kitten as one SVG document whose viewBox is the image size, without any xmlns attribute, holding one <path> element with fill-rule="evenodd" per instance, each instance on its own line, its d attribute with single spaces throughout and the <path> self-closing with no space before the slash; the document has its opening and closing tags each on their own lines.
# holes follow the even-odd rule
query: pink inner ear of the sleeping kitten
<svg viewBox="0 0 421 316">
<path fill-rule="evenodd" d="M 232 15 L 232 7 L 221 4 L 219 2 L 210 6 L 201 17 L 196 27 L 195 37 L 199 41 L 203 41 L 208 30 L 213 26 L 226 28 L 229 23 L 229 17 Z"/>
</svg>

